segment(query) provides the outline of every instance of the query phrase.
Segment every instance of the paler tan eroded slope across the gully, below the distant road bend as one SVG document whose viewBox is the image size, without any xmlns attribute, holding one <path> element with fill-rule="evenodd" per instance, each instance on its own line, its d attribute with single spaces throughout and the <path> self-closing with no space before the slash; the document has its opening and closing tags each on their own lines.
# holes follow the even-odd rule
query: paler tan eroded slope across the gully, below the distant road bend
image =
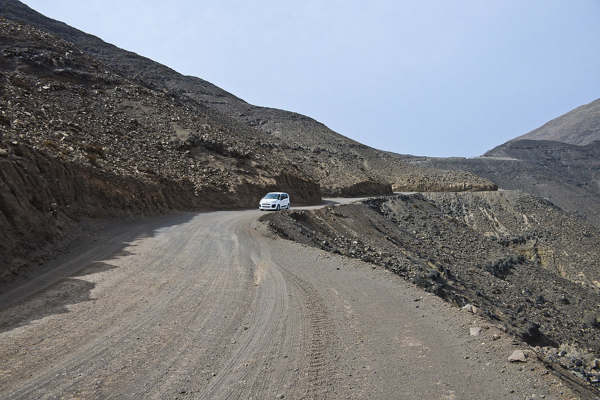
<svg viewBox="0 0 600 400">
<path fill-rule="evenodd" d="M 527 260 L 584 287 L 600 289 L 600 228 L 548 200 L 518 191 L 427 193 L 450 215 Z"/>
</svg>

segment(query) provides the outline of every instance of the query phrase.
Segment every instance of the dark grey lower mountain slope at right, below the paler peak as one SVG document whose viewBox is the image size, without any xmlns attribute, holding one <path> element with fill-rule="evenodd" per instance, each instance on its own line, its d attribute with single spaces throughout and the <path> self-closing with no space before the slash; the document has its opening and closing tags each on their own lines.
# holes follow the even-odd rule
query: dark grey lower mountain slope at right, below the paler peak
<svg viewBox="0 0 600 400">
<path fill-rule="evenodd" d="M 419 166 L 470 171 L 552 201 L 600 226 L 600 142 L 578 146 L 550 140 L 515 140 L 476 158 L 401 156 Z"/>
</svg>

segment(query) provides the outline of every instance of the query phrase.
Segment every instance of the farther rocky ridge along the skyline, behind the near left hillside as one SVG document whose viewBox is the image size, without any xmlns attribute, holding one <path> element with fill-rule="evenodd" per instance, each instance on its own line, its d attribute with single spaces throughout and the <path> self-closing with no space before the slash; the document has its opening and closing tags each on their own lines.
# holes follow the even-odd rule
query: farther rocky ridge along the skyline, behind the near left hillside
<svg viewBox="0 0 600 400">
<path fill-rule="evenodd" d="M 290 163 L 302 168 L 309 179 L 319 182 L 331 196 L 389 193 L 394 190 L 489 190 L 491 182 L 471 173 L 415 169 L 394 162 L 387 154 L 350 140 L 320 122 L 298 113 L 257 107 L 223 91 L 206 80 L 183 76 L 170 68 L 127 50 L 105 43 L 64 23 L 49 19 L 16 0 L 1 0 L 3 16 L 58 35 L 89 55 L 143 85 L 202 104 L 245 127 L 277 140 L 278 149 Z M 195 131 L 192 134 L 197 134 Z"/>
</svg>

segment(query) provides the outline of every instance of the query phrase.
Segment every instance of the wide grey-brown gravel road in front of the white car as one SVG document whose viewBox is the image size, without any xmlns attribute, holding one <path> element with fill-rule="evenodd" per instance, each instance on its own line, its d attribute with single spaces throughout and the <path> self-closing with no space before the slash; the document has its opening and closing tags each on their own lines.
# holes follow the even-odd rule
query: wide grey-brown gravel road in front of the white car
<svg viewBox="0 0 600 400">
<path fill-rule="evenodd" d="M 121 222 L 2 288 L 0 398 L 573 396 L 498 327 L 260 214 Z"/>
</svg>

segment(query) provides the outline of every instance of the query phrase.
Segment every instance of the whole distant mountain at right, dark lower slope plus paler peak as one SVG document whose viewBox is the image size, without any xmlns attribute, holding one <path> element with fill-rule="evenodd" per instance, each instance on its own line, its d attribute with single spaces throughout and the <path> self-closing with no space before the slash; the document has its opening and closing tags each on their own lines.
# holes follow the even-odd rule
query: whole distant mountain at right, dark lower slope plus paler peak
<svg viewBox="0 0 600 400">
<path fill-rule="evenodd" d="M 600 99 L 496 146 L 482 157 L 391 155 L 415 166 L 475 173 L 501 189 L 548 199 L 600 226 Z"/>
</svg>

